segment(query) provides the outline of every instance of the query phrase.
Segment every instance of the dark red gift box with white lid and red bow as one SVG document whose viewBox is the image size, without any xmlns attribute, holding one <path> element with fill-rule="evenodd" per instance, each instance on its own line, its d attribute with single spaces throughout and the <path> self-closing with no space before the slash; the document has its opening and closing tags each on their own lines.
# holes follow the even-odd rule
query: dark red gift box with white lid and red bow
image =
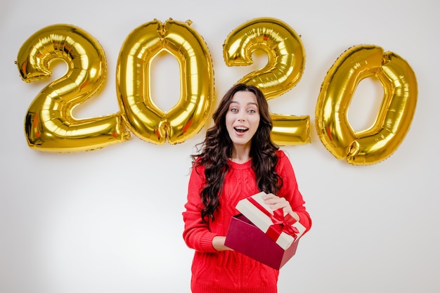
<svg viewBox="0 0 440 293">
<path fill-rule="evenodd" d="M 297 251 L 306 228 L 282 209 L 272 211 L 258 193 L 241 200 L 229 224 L 225 245 L 252 259 L 280 269 Z M 278 215 L 277 215 L 278 214 Z"/>
</svg>

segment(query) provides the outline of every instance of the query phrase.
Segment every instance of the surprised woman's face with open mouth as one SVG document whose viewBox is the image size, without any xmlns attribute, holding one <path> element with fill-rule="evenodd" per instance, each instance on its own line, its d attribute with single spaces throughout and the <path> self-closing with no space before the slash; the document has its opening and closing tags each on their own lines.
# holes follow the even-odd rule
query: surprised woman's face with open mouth
<svg viewBox="0 0 440 293">
<path fill-rule="evenodd" d="M 254 93 L 236 92 L 226 113 L 226 129 L 234 146 L 250 145 L 259 122 L 259 108 Z"/>
</svg>

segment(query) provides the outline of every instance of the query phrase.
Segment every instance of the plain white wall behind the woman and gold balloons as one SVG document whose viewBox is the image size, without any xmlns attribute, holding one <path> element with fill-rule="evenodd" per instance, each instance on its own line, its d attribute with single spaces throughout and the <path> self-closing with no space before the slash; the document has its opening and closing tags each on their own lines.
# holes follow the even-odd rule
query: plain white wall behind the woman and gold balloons
<svg viewBox="0 0 440 293">
<path fill-rule="evenodd" d="M 76 113 L 96 117 L 119 110 L 117 56 L 139 25 L 154 18 L 192 20 L 212 54 L 215 89 L 222 96 L 258 68 L 227 67 L 224 40 L 238 25 L 262 16 L 287 22 L 302 35 L 306 50 L 301 81 L 271 100 L 271 110 L 310 115 L 312 122 L 310 144 L 283 147 L 313 228 L 282 268 L 280 293 L 440 292 L 439 8 L 435 0 L 2 1 L 0 292 L 190 292 L 193 251 L 181 237 L 181 212 L 189 155 L 206 130 L 179 145 L 132 136 L 93 152 L 32 150 L 24 117 L 47 82 L 20 79 L 14 61 L 22 43 L 57 23 L 96 37 L 108 59 L 108 81 Z M 335 159 L 313 124 L 327 70 L 358 44 L 397 53 L 418 78 L 410 131 L 394 155 L 371 166 Z M 177 66 L 165 56 L 155 67 L 153 96 L 163 109 L 179 97 Z M 63 70 L 56 67 L 53 79 Z M 380 91 L 373 82 L 360 84 L 349 112 L 355 128 L 372 123 Z"/>
</svg>

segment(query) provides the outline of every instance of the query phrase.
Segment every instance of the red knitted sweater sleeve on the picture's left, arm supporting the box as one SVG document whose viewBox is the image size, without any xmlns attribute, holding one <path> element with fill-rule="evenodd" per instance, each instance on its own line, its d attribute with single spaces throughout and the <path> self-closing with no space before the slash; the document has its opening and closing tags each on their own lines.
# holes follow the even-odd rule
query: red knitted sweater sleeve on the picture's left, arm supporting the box
<svg viewBox="0 0 440 293">
<path fill-rule="evenodd" d="M 212 246 L 212 239 L 217 235 L 209 231 L 209 225 L 202 222 L 200 211 L 203 204 L 200 191 L 205 182 L 205 169 L 194 167 L 188 183 L 188 199 L 183 211 L 183 240 L 188 247 L 198 252 L 217 252 Z"/>
</svg>

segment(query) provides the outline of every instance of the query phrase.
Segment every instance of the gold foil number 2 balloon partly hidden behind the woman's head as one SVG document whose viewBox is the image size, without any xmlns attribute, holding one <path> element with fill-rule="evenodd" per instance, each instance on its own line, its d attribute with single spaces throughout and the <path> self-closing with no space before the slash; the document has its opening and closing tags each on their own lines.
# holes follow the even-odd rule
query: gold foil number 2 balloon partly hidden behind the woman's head
<svg viewBox="0 0 440 293">
<path fill-rule="evenodd" d="M 299 82 L 304 72 L 304 46 L 289 25 L 275 18 L 255 18 L 236 27 L 224 41 L 225 63 L 251 65 L 252 53 L 257 50 L 267 53 L 268 63 L 238 83 L 257 86 L 269 100 L 290 91 Z M 271 117 L 273 141 L 279 145 L 310 143 L 309 116 L 271 114 Z"/>
</svg>

